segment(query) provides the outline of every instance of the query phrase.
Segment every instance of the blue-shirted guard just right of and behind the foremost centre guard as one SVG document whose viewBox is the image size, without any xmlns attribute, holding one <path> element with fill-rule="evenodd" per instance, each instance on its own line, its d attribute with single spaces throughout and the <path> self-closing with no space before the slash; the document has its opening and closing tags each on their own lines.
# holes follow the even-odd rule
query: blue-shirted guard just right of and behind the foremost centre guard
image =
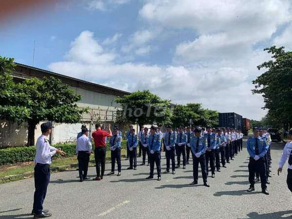
<svg viewBox="0 0 292 219">
<path fill-rule="evenodd" d="M 166 157 L 166 170 L 164 173 L 169 173 L 170 159 L 172 174 L 175 174 L 175 143 L 177 136 L 171 129 L 171 125 L 166 126 L 166 133 L 164 135 L 165 157 Z"/>
</svg>

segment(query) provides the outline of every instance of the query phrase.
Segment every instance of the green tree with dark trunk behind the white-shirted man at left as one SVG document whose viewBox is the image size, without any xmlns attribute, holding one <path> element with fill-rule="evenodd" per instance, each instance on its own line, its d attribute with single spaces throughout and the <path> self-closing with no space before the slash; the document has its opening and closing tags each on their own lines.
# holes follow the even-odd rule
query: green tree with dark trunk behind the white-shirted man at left
<svg viewBox="0 0 292 219">
<path fill-rule="evenodd" d="M 87 109 L 77 107 L 81 95 L 76 94 L 68 85 L 55 77 L 26 79 L 19 85 L 19 91 L 25 92 L 28 101 L 25 107 L 30 110 L 27 145 L 35 144 L 35 129 L 40 121 L 57 123 L 77 123 Z"/>
</svg>

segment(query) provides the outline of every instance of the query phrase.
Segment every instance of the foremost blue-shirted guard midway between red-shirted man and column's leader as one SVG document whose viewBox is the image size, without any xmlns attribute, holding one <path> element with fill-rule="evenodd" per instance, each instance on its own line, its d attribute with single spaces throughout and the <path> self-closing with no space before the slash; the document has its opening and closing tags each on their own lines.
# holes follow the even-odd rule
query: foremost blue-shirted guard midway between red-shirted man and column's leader
<svg viewBox="0 0 292 219">
<path fill-rule="evenodd" d="M 149 150 L 149 161 L 150 161 L 150 175 L 146 178 L 153 179 L 154 163 L 157 168 L 157 180 L 161 181 L 161 139 L 162 135 L 157 132 L 157 126 L 151 126 L 150 136 L 148 138 L 148 150 Z"/>
</svg>

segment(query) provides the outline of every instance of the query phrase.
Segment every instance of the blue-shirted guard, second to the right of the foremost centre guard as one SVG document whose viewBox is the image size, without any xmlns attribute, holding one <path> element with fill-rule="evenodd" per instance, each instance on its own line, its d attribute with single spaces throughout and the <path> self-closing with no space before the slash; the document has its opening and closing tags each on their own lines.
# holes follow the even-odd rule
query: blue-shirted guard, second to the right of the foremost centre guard
<svg viewBox="0 0 292 219">
<path fill-rule="evenodd" d="M 176 142 L 177 162 L 178 162 L 177 168 L 179 168 L 181 165 L 181 154 L 182 154 L 183 155 L 183 169 L 185 169 L 185 165 L 186 165 L 185 145 L 186 145 L 186 142 L 187 142 L 187 138 L 183 132 L 183 126 L 180 126 L 179 133 L 177 134 L 177 142 Z"/>
</svg>

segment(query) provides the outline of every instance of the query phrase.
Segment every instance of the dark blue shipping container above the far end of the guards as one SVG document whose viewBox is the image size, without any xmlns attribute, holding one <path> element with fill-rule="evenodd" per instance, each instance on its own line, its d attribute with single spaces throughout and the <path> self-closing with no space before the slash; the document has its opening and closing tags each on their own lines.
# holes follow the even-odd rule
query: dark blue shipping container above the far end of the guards
<svg viewBox="0 0 292 219">
<path fill-rule="evenodd" d="M 219 113 L 219 127 L 242 129 L 242 116 L 235 112 Z"/>
</svg>

